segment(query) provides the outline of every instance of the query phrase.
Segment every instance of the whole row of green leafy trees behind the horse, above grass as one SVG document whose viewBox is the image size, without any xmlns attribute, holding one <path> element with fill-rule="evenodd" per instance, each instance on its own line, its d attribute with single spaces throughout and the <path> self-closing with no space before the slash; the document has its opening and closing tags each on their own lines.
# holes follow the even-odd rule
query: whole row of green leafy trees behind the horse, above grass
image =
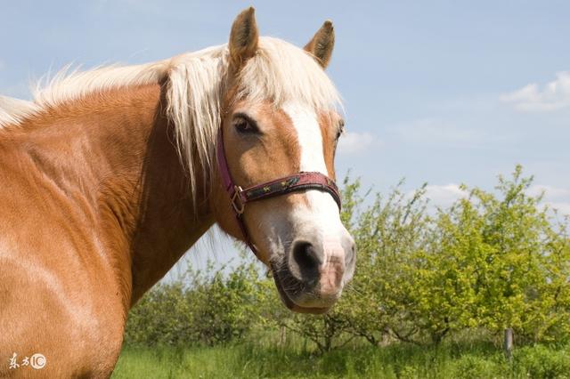
<svg viewBox="0 0 570 379">
<path fill-rule="evenodd" d="M 530 193 L 532 182 L 517 166 L 495 190 L 465 186 L 466 197 L 435 211 L 426 186 L 383 196 L 346 179 L 342 218 L 356 240 L 356 273 L 328 314 L 286 310 L 265 269 L 243 254 L 229 273 L 210 264 L 155 286 L 131 310 L 126 344 L 213 345 L 262 330 L 330 351 L 354 339 L 501 339 L 506 329 L 517 344 L 567 343 L 568 219 Z"/>
</svg>

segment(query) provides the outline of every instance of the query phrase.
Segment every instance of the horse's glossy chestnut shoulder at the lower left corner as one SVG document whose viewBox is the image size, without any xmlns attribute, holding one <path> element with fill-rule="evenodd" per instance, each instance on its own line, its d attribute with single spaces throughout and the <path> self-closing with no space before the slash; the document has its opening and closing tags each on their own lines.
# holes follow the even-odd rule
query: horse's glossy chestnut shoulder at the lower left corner
<svg viewBox="0 0 570 379">
<path fill-rule="evenodd" d="M 40 353 L 49 377 L 108 376 L 125 307 L 104 247 L 48 179 L 1 152 L 0 360 Z"/>
</svg>

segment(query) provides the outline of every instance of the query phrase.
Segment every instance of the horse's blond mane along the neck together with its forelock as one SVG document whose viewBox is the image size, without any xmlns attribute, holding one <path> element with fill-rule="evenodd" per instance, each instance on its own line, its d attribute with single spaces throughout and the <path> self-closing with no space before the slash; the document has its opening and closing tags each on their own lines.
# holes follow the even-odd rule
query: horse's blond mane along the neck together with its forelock
<svg viewBox="0 0 570 379">
<path fill-rule="evenodd" d="M 197 173 L 191 157 L 199 157 L 206 174 L 215 163 L 213 146 L 228 85 L 228 55 L 224 44 L 136 66 L 63 69 L 51 80 L 40 81 L 31 102 L 0 98 L 0 126 L 18 125 L 42 110 L 86 95 L 167 79 L 167 116 L 175 125 L 178 152 L 194 191 Z M 315 110 L 340 106 L 335 86 L 314 58 L 272 37 L 260 38 L 258 52 L 240 71 L 237 90 L 239 99 L 270 100 L 275 107 L 286 101 L 299 101 Z"/>
</svg>

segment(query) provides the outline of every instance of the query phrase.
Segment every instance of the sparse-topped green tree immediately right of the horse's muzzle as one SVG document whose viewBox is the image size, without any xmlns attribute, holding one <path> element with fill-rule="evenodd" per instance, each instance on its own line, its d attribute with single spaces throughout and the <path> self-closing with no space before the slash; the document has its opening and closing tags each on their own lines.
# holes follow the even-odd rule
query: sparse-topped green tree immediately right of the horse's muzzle
<svg viewBox="0 0 570 379">
<path fill-rule="evenodd" d="M 354 280 L 339 304 L 347 329 L 377 345 L 394 335 L 412 341 L 417 332 L 409 319 L 411 255 L 422 245 L 426 230 L 425 187 L 411 196 L 400 183 L 386 197 L 376 195 L 371 206 L 350 214 L 357 250 Z M 361 206 L 359 181 L 345 185 L 349 204 Z"/>
</svg>

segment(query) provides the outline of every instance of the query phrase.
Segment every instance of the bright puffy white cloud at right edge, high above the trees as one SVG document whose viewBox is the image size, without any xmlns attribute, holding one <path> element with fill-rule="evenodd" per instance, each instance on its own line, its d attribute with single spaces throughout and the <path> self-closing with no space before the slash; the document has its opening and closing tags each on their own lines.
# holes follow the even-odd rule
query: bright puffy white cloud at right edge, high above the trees
<svg viewBox="0 0 570 379">
<path fill-rule="evenodd" d="M 556 80 L 541 89 L 538 84 L 525 85 L 499 98 L 523 112 L 548 112 L 570 107 L 570 71 L 558 72 Z"/>
</svg>

